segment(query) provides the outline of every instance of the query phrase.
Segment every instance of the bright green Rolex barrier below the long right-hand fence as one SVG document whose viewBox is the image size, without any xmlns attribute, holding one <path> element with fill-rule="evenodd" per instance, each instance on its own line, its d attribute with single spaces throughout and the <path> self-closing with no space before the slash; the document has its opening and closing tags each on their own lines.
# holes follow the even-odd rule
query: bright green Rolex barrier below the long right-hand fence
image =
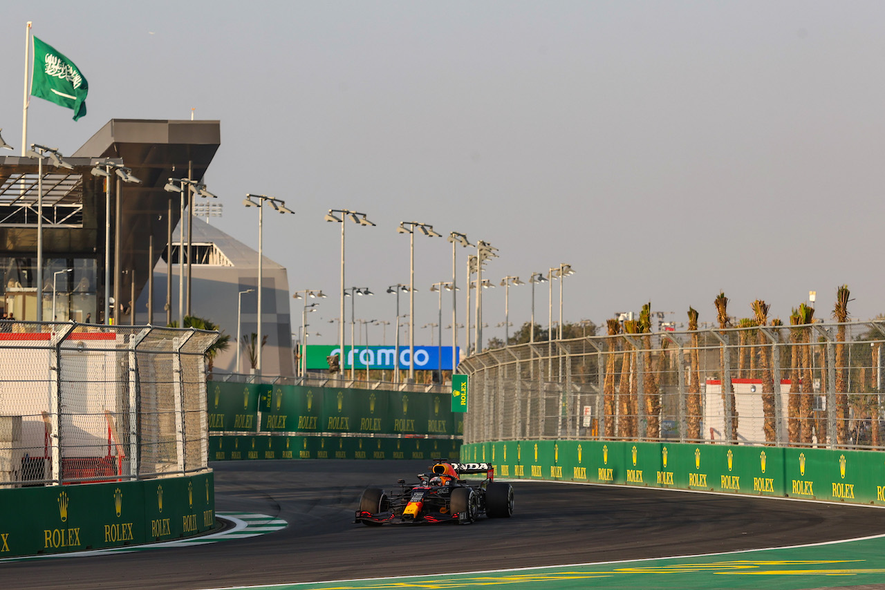
<svg viewBox="0 0 885 590">
<path fill-rule="evenodd" d="M 466 444 L 496 476 L 885 505 L 885 453 L 629 441 Z"/>
</svg>

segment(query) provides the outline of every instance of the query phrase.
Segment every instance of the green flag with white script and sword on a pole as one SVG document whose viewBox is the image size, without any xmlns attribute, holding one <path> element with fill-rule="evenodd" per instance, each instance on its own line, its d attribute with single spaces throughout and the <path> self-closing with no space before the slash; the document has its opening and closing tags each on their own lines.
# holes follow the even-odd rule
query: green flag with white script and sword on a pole
<svg viewBox="0 0 885 590">
<path fill-rule="evenodd" d="M 86 114 L 89 83 L 73 61 L 34 37 L 34 75 L 31 94 L 73 109 L 73 120 Z"/>
</svg>

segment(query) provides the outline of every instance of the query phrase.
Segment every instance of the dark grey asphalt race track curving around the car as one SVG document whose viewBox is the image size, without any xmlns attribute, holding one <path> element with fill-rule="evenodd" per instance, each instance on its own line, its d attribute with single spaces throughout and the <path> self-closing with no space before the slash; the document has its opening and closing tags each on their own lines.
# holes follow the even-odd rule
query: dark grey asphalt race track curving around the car
<svg viewBox="0 0 885 590">
<path fill-rule="evenodd" d="M 885 533 L 859 506 L 651 488 L 514 482 L 510 519 L 473 525 L 353 525 L 364 487 L 412 481 L 427 462 L 212 464 L 216 509 L 281 517 L 246 540 L 0 563 L 0 588 L 175 588 L 370 578 L 685 556 Z"/>
</svg>

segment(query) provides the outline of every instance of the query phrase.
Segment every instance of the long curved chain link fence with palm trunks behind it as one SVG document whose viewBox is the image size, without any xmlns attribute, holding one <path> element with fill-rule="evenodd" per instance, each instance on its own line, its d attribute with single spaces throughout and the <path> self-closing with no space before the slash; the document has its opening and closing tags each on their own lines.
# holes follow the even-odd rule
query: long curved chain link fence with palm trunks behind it
<svg viewBox="0 0 885 590">
<path fill-rule="evenodd" d="M 470 356 L 465 442 L 885 448 L 885 322 L 541 341 Z"/>
</svg>

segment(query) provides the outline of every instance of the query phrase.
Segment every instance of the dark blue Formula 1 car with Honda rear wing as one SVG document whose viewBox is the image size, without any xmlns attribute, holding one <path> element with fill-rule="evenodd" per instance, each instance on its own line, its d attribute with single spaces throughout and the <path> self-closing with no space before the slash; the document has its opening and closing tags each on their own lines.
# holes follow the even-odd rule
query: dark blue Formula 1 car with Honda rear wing
<svg viewBox="0 0 885 590">
<path fill-rule="evenodd" d="M 467 473 L 485 473 L 481 482 L 466 481 Z M 507 518 L 513 513 L 513 488 L 495 481 L 494 468 L 486 463 L 448 463 L 418 474 L 418 483 L 396 482 L 399 490 L 366 488 L 359 500 L 354 523 L 385 524 L 458 523 L 467 525 L 482 515 Z"/>
</svg>

